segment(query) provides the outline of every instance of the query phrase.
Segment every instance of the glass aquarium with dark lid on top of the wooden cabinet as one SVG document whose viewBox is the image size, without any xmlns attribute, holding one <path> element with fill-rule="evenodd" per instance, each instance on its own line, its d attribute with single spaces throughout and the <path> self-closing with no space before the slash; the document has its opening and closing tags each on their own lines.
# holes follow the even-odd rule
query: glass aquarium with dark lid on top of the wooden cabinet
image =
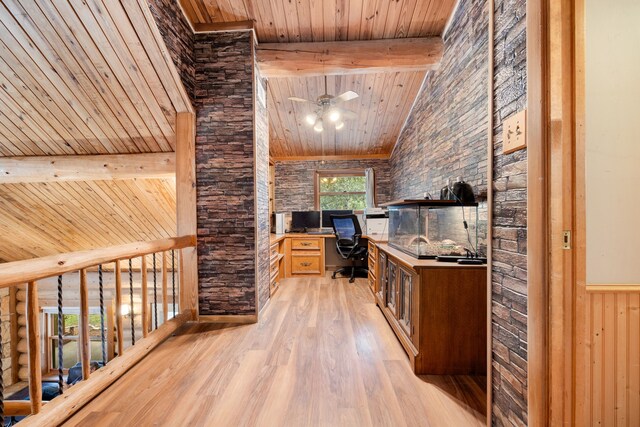
<svg viewBox="0 0 640 427">
<path fill-rule="evenodd" d="M 401 200 L 387 207 L 389 246 L 395 249 L 422 259 L 478 251 L 477 203 Z"/>
</svg>

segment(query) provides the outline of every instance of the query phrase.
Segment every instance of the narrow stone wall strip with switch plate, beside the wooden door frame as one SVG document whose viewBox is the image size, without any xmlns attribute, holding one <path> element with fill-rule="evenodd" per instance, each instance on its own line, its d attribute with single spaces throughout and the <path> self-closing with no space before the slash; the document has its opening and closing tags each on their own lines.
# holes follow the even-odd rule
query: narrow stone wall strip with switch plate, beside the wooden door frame
<svg viewBox="0 0 640 427">
<path fill-rule="evenodd" d="M 493 423 L 527 424 L 527 152 L 502 154 L 502 123 L 526 108 L 526 0 L 496 0 Z"/>
</svg>

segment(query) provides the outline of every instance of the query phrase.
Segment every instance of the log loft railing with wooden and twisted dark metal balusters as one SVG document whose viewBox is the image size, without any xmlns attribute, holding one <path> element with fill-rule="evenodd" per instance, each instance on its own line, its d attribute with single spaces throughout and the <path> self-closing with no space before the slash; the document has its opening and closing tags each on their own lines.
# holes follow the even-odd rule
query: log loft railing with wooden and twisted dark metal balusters
<svg viewBox="0 0 640 427">
<path fill-rule="evenodd" d="M 179 295 L 184 281 L 189 274 L 184 274 L 180 264 L 183 260 L 183 249 L 195 247 L 195 236 L 183 236 L 152 242 L 136 242 L 121 246 L 71 252 L 42 258 L 0 264 L 0 289 L 21 289 L 26 284 L 24 314 L 26 317 L 26 334 L 28 358 L 29 400 L 4 400 L 4 384 L 2 378 L 2 358 L 0 357 L 0 425 L 4 425 L 5 417 L 27 416 L 20 425 L 57 425 L 80 409 L 86 402 L 101 393 L 106 387 L 122 376 L 131 366 L 140 361 L 149 351 L 166 339 L 178 327 L 192 320 L 192 310 L 180 309 L 182 302 Z M 124 268 L 123 268 L 124 261 Z M 112 270 L 109 270 L 112 267 Z M 112 271 L 112 274 L 109 272 Z M 135 272 L 139 282 L 139 304 L 135 304 L 134 280 Z M 79 295 L 78 330 L 70 335 L 63 334 L 63 317 L 65 314 L 63 292 L 63 275 L 79 273 L 77 295 Z M 97 275 L 98 289 L 90 289 L 88 275 Z M 123 294 L 123 276 L 128 284 L 128 295 Z M 38 298 L 38 283 L 57 279 L 57 394 L 58 396 L 43 406 L 42 399 L 42 336 Z M 149 295 L 149 281 L 152 281 L 152 295 Z M 113 283 L 107 283 L 112 281 Z M 105 306 L 104 290 L 113 286 L 115 297 L 113 307 Z M 169 291 L 171 287 L 171 291 Z M 68 290 L 68 289 L 67 289 Z M 92 372 L 91 337 L 90 337 L 90 291 L 99 295 L 100 342 L 102 366 Z M 18 291 L 20 293 L 20 291 Z M 160 295 L 160 297 L 159 297 Z M 68 295 L 67 295 L 68 297 Z M 149 299 L 153 300 L 153 304 Z M 161 305 L 161 310 L 159 306 Z M 169 315 L 169 305 L 172 315 Z M 135 307 L 139 306 L 139 313 Z M 184 306 L 184 305 L 183 305 Z M 113 308 L 113 309 L 111 309 Z M 110 312 L 115 312 L 110 314 Z M 160 312 L 162 321 L 160 322 Z M 136 336 L 135 316 L 141 319 L 142 338 Z M 125 324 L 124 318 L 129 322 Z M 17 322 L 17 321 L 16 321 Z M 105 327 L 105 324 L 107 325 Z M 17 327 L 17 325 L 16 325 Z M 115 329 L 115 333 L 114 333 Z M 125 348 L 125 331 L 130 335 L 130 346 Z M 45 329 L 45 334 L 48 330 Z M 2 354 L 2 329 L 0 328 L 0 354 Z M 107 336 L 112 338 L 113 347 L 106 347 Z M 12 334 L 14 335 L 14 334 Z M 17 335 L 17 334 L 15 334 Z M 14 335 L 14 337 L 15 337 Z M 128 337 L 127 337 L 128 338 Z M 80 365 L 82 380 L 73 386 L 64 384 L 64 367 L 62 362 L 64 340 L 76 339 L 80 349 Z M 17 342 L 11 343 L 17 346 Z M 48 343 L 45 343 L 48 345 Z M 51 346 L 53 348 L 54 346 Z M 48 347 L 47 347 L 48 349 Z M 114 357 L 115 356 L 115 357 Z M 15 363 L 15 360 L 13 361 Z M 49 362 L 49 361 L 47 361 Z M 95 366 L 96 363 L 94 362 Z M 14 367 L 15 368 L 15 367 Z"/>
</svg>

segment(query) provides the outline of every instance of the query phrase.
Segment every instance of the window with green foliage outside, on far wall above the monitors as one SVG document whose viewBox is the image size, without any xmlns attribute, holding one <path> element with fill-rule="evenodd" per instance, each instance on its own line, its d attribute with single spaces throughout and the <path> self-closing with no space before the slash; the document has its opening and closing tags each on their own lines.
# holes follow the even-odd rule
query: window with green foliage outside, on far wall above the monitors
<svg viewBox="0 0 640 427">
<path fill-rule="evenodd" d="M 316 172 L 316 209 L 364 210 L 366 179 L 363 170 L 323 170 Z"/>
</svg>

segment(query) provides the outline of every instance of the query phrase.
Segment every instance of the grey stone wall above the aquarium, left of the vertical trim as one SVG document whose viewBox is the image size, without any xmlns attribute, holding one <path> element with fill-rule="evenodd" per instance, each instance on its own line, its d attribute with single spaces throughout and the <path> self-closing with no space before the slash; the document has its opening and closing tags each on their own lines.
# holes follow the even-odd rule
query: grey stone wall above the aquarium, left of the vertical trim
<svg viewBox="0 0 640 427">
<path fill-rule="evenodd" d="M 461 176 L 486 198 L 488 13 L 461 0 L 440 68 L 427 76 L 391 156 L 393 199 L 439 197 Z"/>
</svg>

